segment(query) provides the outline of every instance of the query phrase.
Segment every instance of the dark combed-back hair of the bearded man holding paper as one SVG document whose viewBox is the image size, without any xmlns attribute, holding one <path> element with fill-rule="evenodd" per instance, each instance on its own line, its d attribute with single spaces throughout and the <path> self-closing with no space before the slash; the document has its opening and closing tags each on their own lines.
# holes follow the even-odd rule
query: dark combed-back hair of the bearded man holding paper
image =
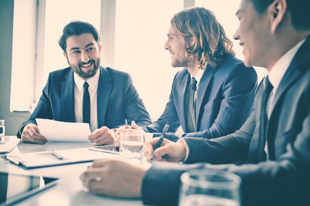
<svg viewBox="0 0 310 206">
<path fill-rule="evenodd" d="M 59 46 L 62 48 L 62 50 L 66 52 L 67 43 L 66 40 L 68 37 L 71 36 L 80 36 L 82 34 L 91 33 L 94 36 L 95 41 L 99 44 L 100 37 L 98 34 L 97 29 L 91 25 L 90 23 L 83 22 L 83 21 L 71 21 L 69 24 L 67 24 L 62 31 L 62 35 L 58 40 Z"/>
</svg>

